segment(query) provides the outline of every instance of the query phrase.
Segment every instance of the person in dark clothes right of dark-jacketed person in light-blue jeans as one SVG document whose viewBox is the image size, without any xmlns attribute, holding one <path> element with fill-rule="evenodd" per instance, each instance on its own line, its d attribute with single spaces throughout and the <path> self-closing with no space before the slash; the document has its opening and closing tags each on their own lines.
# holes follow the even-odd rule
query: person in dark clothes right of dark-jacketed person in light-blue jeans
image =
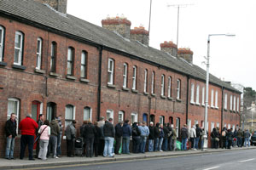
<svg viewBox="0 0 256 170">
<path fill-rule="evenodd" d="M 118 124 L 115 125 L 115 147 L 114 147 L 114 154 L 119 155 L 119 149 L 122 143 L 123 137 L 123 121 L 120 121 Z"/>
</svg>

